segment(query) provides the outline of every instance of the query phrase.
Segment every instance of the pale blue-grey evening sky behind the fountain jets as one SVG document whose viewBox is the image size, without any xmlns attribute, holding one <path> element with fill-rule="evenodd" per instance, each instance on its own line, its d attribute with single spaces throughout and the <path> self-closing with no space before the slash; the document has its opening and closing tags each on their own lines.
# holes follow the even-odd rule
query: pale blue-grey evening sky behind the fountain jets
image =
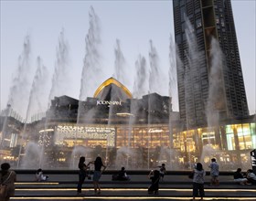
<svg viewBox="0 0 256 201">
<path fill-rule="evenodd" d="M 240 48 L 240 60 L 246 88 L 250 113 L 255 113 L 255 1 L 232 0 L 233 15 Z M 4 110 L 13 80 L 16 78 L 18 58 L 23 54 L 23 44 L 28 36 L 31 47 L 29 59 L 33 78 L 37 69 L 37 57 L 48 69 L 52 77 L 57 60 L 60 32 L 69 47 L 68 87 L 65 94 L 72 98 L 80 97 L 80 79 L 85 57 L 85 37 L 89 29 L 89 12 L 93 7 L 100 19 L 102 83 L 114 74 L 114 48 L 116 39 L 125 59 L 125 77 L 123 83 L 133 92 L 135 68 L 139 55 L 146 58 L 149 68 L 150 40 L 158 54 L 157 66 L 161 71 L 161 87 L 157 91 L 168 95 L 168 70 L 170 67 L 169 44 L 173 38 L 172 1 L 5 1 L 1 0 L 1 66 L 0 66 L 0 111 Z M 160 81 L 160 80 L 159 80 Z M 29 82 L 29 81 L 28 81 Z M 30 81 L 32 82 L 32 81 Z M 31 83 L 29 83 L 31 84 Z M 51 78 L 45 80 L 49 93 Z M 90 96 L 96 89 L 91 89 Z M 42 97 L 43 99 L 43 97 Z M 28 100 L 27 96 L 21 96 Z M 46 105 L 47 108 L 47 99 Z M 26 104 L 14 106 L 16 111 L 26 111 Z M 23 110 L 23 111 L 22 111 Z M 178 111 L 177 97 L 174 97 L 173 110 Z"/>
</svg>

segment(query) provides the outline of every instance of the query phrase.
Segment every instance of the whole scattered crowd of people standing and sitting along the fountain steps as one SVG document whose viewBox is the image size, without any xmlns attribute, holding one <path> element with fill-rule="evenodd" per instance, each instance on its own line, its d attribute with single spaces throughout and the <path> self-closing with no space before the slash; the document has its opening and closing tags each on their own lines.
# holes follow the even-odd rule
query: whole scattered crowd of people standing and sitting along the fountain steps
<svg viewBox="0 0 256 201">
<path fill-rule="evenodd" d="M 92 175 L 92 183 L 94 187 L 94 194 L 101 194 L 101 186 L 100 179 L 102 172 L 107 168 L 105 164 L 103 164 L 101 157 L 98 156 L 94 161 L 85 164 L 85 157 L 81 156 L 78 164 L 79 168 L 79 181 L 77 185 L 77 194 L 81 194 L 82 185 L 85 182 L 86 177 L 90 178 L 90 166 L 91 164 L 94 167 L 93 175 Z M 211 159 L 211 163 L 208 165 L 210 172 L 210 184 L 209 185 L 219 185 L 219 164 L 217 163 L 215 158 Z M 166 174 L 165 164 L 160 166 L 156 166 L 154 170 L 151 170 L 148 178 L 151 180 L 151 185 L 148 187 L 148 194 L 158 195 L 159 191 L 159 182 L 164 180 L 164 176 Z M 197 196 L 200 197 L 200 200 L 203 200 L 205 196 L 204 184 L 206 171 L 203 168 L 201 163 L 197 163 L 193 169 L 193 171 L 189 176 L 193 179 L 192 182 L 192 196 L 193 200 L 196 199 Z M 245 174 L 242 174 L 241 168 L 238 168 L 236 172 L 233 174 L 234 183 L 239 185 L 256 185 L 256 175 L 253 173 L 252 169 L 249 169 Z M 43 174 L 43 170 L 41 168 L 37 169 L 36 172 L 36 181 L 47 181 L 48 175 Z M 127 175 L 125 167 L 122 167 L 117 175 L 112 175 L 112 180 L 120 180 L 120 181 L 130 181 L 131 178 Z M 0 174 L 0 186 L 5 187 L 5 194 L 0 195 L 1 201 L 8 201 L 11 196 L 15 196 L 15 182 L 16 182 L 16 172 L 10 170 L 10 164 L 4 163 L 1 164 L 1 174 Z"/>
</svg>

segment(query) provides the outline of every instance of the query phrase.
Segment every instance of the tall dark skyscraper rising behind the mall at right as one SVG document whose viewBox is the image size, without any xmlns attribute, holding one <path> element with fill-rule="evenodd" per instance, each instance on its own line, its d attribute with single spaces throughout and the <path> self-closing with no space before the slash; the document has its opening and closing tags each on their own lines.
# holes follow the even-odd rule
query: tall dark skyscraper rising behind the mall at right
<svg viewBox="0 0 256 201">
<path fill-rule="evenodd" d="M 230 0 L 173 0 L 179 111 L 187 129 L 249 115 Z"/>
</svg>

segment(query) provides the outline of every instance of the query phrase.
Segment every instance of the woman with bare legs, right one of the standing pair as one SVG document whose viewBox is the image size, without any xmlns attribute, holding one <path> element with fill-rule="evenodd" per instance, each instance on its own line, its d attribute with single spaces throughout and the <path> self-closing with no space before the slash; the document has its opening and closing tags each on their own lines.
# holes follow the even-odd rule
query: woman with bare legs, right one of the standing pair
<svg viewBox="0 0 256 201">
<path fill-rule="evenodd" d="M 93 173 L 93 177 L 92 177 L 93 186 L 94 186 L 94 194 L 100 195 L 101 187 L 100 187 L 99 181 L 100 181 L 102 172 L 107 168 L 107 166 L 102 163 L 100 156 L 98 156 L 95 161 L 92 161 L 89 164 L 94 164 L 94 173 Z M 102 171 L 101 171 L 101 167 L 103 167 Z M 97 189 L 98 189 L 98 193 L 97 193 Z"/>
</svg>

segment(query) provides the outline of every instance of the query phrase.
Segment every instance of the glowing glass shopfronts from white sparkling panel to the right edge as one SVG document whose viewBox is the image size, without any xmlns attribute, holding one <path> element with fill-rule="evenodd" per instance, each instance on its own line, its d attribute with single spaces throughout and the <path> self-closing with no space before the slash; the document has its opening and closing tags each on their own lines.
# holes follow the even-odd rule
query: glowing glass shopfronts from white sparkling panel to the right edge
<svg viewBox="0 0 256 201">
<path fill-rule="evenodd" d="M 82 131 L 82 135 L 76 133 L 77 130 Z M 218 158 L 221 168 L 239 163 L 249 168 L 249 151 L 256 148 L 255 139 L 255 123 L 228 124 L 219 128 L 197 128 L 183 132 L 176 132 L 176 128 L 170 132 L 166 124 L 130 127 L 87 125 L 80 128 L 75 124 L 59 124 L 55 129 L 56 145 L 69 148 L 78 145 L 87 148 L 101 146 L 105 158 L 112 158 L 109 151 L 112 148 L 121 151 L 128 149 L 129 152 L 126 150 L 125 154 L 123 151 L 123 157 L 129 161 L 127 163 L 142 169 L 157 165 L 159 161 L 173 168 L 187 169 L 192 167 L 188 162 L 193 164 L 201 160 L 208 164 L 212 157 Z M 119 154 L 117 151 L 114 157 L 120 157 Z M 138 157 L 143 157 L 144 163 L 136 164 Z"/>
</svg>

